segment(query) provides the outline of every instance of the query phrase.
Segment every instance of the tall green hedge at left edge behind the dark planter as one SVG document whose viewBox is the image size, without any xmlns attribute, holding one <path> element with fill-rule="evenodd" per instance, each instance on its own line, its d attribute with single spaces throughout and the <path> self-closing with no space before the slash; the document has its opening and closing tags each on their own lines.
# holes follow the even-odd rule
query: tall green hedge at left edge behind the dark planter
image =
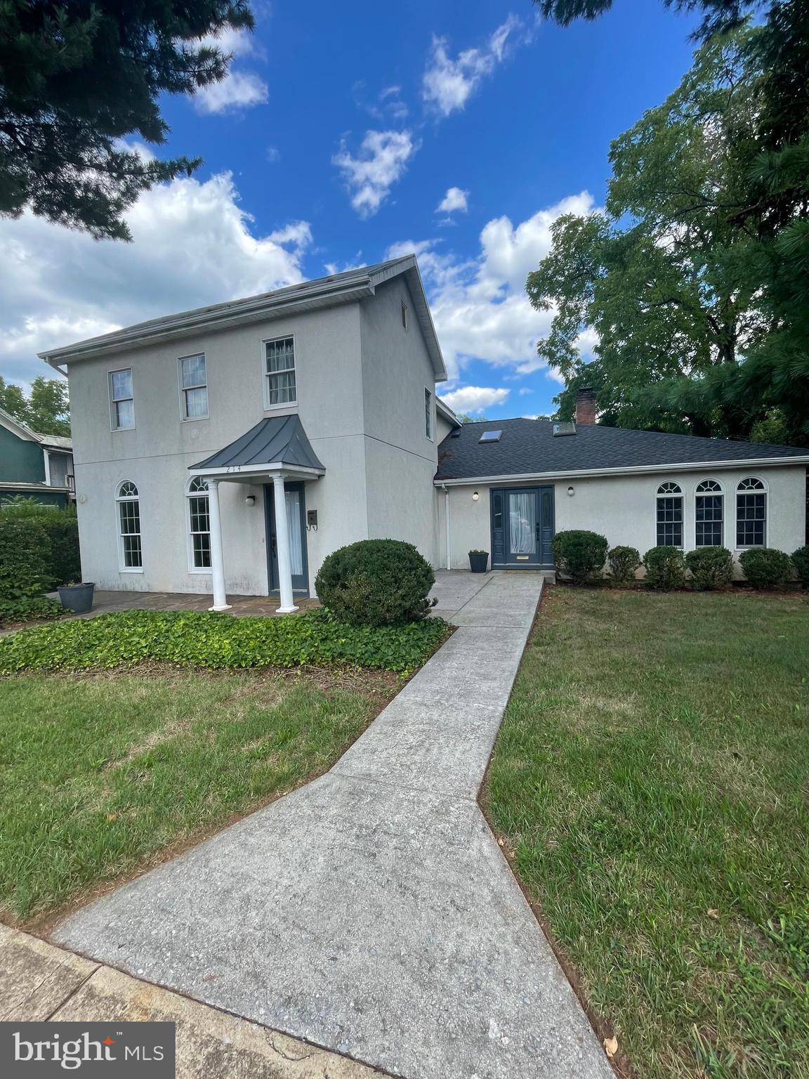
<svg viewBox="0 0 809 1079">
<path fill-rule="evenodd" d="M 74 509 L 31 502 L 0 510 L 0 601 L 41 596 L 80 579 Z"/>
</svg>

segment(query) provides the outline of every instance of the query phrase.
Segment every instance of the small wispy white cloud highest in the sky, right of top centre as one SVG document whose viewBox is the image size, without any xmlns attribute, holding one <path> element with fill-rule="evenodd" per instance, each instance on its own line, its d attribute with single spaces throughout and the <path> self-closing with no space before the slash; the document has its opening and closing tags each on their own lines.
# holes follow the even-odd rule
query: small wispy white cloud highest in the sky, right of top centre
<svg viewBox="0 0 809 1079">
<path fill-rule="evenodd" d="M 509 37 L 522 28 L 515 15 L 479 49 L 467 49 L 453 59 L 447 51 L 445 38 L 433 38 L 433 52 L 422 79 L 422 98 L 427 108 L 440 117 L 463 109 L 481 81 L 490 76 L 505 54 Z"/>
</svg>

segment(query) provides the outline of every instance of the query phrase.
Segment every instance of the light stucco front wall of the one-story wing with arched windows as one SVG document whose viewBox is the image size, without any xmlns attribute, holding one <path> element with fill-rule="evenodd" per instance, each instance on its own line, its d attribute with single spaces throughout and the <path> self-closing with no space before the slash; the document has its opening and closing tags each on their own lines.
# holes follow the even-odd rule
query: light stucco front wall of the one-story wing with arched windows
<svg viewBox="0 0 809 1079">
<path fill-rule="evenodd" d="M 683 490 L 684 549 L 693 550 L 695 542 L 696 487 L 703 479 L 722 483 L 725 494 L 724 546 L 736 549 L 736 486 L 745 476 L 764 480 L 768 489 L 767 546 L 791 554 L 805 541 L 806 469 L 800 465 L 760 468 L 714 468 L 700 472 L 646 473 L 635 476 L 598 477 L 590 479 L 557 478 L 553 481 L 556 531 L 590 529 L 607 537 L 611 547 L 628 544 L 641 555 L 654 547 L 656 532 L 656 493 L 660 483 L 675 482 Z M 548 483 L 543 480 L 541 483 Z M 492 484 L 450 488 L 450 560 L 452 569 L 468 569 L 468 551 L 481 548 L 491 551 L 490 495 Z M 496 483 L 495 487 L 533 487 L 525 483 Z M 567 494 L 567 488 L 573 494 Z M 477 491 L 479 498 L 472 498 Z M 443 496 L 442 496 L 443 497 Z M 443 513 L 441 515 L 439 558 L 445 564 Z"/>
</svg>

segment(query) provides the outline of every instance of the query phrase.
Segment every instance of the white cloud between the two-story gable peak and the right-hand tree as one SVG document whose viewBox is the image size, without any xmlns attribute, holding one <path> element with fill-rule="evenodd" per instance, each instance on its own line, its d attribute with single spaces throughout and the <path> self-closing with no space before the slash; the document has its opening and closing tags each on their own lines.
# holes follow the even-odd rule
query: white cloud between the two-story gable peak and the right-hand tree
<svg viewBox="0 0 809 1079">
<path fill-rule="evenodd" d="M 562 214 L 592 213 L 586 191 L 538 210 L 517 226 L 494 218 L 480 234 L 480 254 L 458 260 L 435 240 L 403 241 L 386 258 L 415 251 L 430 299 L 451 379 L 472 359 L 529 374 L 547 367 L 536 354 L 552 311 L 535 311 L 525 295 L 525 278 L 550 250 L 550 229 Z"/>
</svg>

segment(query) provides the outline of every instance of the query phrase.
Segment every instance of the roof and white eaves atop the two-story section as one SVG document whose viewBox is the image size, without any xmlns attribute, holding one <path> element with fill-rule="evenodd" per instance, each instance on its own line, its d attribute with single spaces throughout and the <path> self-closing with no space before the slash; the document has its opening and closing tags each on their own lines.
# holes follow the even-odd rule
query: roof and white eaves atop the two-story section
<svg viewBox="0 0 809 1079">
<path fill-rule="evenodd" d="M 181 311 L 175 315 L 150 318 L 146 323 L 137 323 L 135 326 L 104 333 L 101 337 L 78 341 L 60 349 L 49 349 L 39 353 L 39 356 L 52 367 L 57 364 L 74 364 L 80 359 L 120 352 L 154 340 L 180 337 L 197 329 L 220 329 L 251 322 L 266 322 L 290 312 L 315 311 L 340 303 L 352 303 L 373 296 L 379 285 L 399 275 L 404 276 L 410 287 L 413 308 L 433 360 L 436 381 L 442 382 L 447 378 L 447 369 L 415 255 L 404 255 L 402 258 L 376 262 L 373 265 L 357 267 L 328 277 L 318 277 L 316 281 L 304 281 L 299 285 L 276 288 L 272 292 L 261 292 L 244 300 L 229 300 L 227 303 L 214 303 L 206 308 Z"/>
</svg>

